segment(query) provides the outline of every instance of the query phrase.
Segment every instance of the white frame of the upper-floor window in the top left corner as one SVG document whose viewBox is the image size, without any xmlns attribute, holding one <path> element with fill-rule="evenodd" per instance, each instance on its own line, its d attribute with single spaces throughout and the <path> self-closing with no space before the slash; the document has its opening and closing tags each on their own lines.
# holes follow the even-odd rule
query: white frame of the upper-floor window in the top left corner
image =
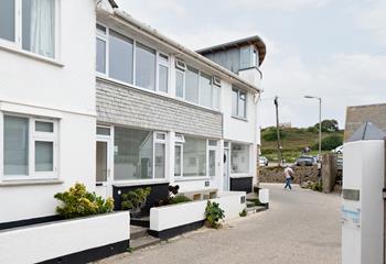
<svg viewBox="0 0 386 264">
<path fill-rule="evenodd" d="M 54 61 L 57 62 L 61 58 L 61 0 L 55 1 L 55 45 L 54 45 L 54 57 L 46 57 L 37 53 L 23 50 L 23 36 L 22 36 L 22 0 L 14 0 L 14 42 L 0 38 L 0 46 L 13 50 L 23 54 L 28 54 L 32 57 L 42 58 L 43 61 Z"/>
</svg>

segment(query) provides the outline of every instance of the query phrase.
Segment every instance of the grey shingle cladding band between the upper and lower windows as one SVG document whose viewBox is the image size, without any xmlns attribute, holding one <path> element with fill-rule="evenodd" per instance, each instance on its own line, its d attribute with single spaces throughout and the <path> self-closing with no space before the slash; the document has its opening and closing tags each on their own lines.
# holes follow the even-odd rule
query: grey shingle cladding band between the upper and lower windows
<svg viewBox="0 0 386 264">
<path fill-rule="evenodd" d="M 219 112 L 103 79 L 96 89 L 98 122 L 223 138 Z"/>
</svg>

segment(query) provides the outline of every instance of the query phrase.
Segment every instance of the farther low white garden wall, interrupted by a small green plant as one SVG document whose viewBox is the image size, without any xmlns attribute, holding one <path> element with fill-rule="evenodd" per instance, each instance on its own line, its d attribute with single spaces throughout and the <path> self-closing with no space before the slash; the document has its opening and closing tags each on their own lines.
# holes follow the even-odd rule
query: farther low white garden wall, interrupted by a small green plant
<svg viewBox="0 0 386 264">
<path fill-rule="evenodd" d="M 221 194 L 221 197 L 211 199 L 218 202 L 224 210 L 225 219 L 238 217 L 245 209 L 246 204 L 242 204 L 244 191 L 229 191 Z M 150 230 L 162 231 L 181 227 L 187 223 L 202 221 L 205 219 L 205 208 L 207 200 L 190 201 L 173 206 L 153 207 L 150 209 Z"/>
</svg>

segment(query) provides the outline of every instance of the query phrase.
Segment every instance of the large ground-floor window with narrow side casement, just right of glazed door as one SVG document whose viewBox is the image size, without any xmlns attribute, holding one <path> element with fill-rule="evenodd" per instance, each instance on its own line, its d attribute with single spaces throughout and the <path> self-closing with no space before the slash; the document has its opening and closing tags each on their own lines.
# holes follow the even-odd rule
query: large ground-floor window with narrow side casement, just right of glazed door
<svg viewBox="0 0 386 264">
<path fill-rule="evenodd" d="M 165 177 L 165 134 L 120 127 L 114 132 L 116 180 Z"/>
</svg>

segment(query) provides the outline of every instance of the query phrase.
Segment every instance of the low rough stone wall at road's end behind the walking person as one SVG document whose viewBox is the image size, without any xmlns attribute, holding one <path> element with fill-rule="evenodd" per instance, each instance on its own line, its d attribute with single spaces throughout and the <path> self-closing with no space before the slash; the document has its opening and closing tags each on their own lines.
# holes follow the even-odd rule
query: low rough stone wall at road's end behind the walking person
<svg viewBox="0 0 386 264">
<path fill-rule="evenodd" d="M 262 167 L 259 172 L 259 183 L 285 183 L 285 168 Z M 318 182 L 318 166 L 296 166 L 293 167 L 294 179 L 292 183 L 301 184 L 305 182 Z"/>
</svg>

